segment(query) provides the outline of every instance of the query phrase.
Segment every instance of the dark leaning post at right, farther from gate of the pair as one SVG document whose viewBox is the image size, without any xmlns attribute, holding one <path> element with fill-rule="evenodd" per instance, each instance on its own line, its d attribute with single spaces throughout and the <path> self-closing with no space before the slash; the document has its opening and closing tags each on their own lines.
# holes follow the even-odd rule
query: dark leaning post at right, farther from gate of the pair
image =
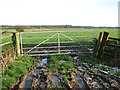
<svg viewBox="0 0 120 90">
<path fill-rule="evenodd" d="M 103 53 L 104 53 L 104 48 L 105 48 L 105 45 L 106 45 L 106 41 L 107 41 L 107 39 L 108 39 L 108 35 L 109 35 L 109 33 L 104 32 L 102 41 L 101 41 L 101 43 L 100 43 L 100 49 L 99 49 L 99 51 L 98 51 L 97 58 L 101 58 L 102 55 L 103 55 Z"/>
</svg>

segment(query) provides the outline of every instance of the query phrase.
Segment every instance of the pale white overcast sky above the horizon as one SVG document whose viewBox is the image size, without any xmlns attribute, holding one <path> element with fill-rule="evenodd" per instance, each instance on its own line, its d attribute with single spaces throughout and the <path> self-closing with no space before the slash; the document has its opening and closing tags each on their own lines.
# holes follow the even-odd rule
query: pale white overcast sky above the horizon
<svg viewBox="0 0 120 90">
<path fill-rule="evenodd" d="M 118 26 L 119 0 L 0 0 L 0 25 Z"/>
</svg>

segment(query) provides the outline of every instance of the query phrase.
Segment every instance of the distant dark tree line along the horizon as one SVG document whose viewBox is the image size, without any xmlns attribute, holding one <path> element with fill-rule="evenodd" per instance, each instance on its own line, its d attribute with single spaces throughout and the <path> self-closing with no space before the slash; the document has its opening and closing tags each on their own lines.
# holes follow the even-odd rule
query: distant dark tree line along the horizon
<svg viewBox="0 0 120 90">
<path fill-rule="evenodd" d="M 2 29 L 40 29 L 40 28 L 120 28 L 120 27 L 94 27 L 94 26 L 72 26 L 72 25 L 2 25 Z"/>
</svg>

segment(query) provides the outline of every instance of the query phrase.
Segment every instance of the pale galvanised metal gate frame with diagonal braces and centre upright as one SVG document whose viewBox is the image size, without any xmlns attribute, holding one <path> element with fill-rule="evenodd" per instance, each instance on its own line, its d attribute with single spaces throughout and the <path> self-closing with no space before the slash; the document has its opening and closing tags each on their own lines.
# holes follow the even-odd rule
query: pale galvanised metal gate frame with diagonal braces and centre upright
<svg viewBox="0 0 120 90">
<path fill-rule="evenodd" d="M 46 43 L 46 41 L 48 41 L 49 39 L 51 39 L 51 38 L 54 38 L 54 36 L 56 36 L 56 35 L 58 35 L 58 37 L 55 37 L 55 38 L 58 38 L 58 42 L 47 42 L 47 43 L 58 43 L 58 46 L 54 46 L 54 47 L 58 47 L 58 50 L 55 50 L 55 54 L 37 54 L 37 55 L 27 55 L 27 56 L 43 56 L 43 55 L 61 55 L 61 54 L 81 54 L 82 52 L 79 52 L 79 53 L 61 53 L 61 51 L 62 50 L 60 50 L 60 48 L 61 48 L 61 46 L 60 46 L 60 44 L 61 43 L 70 43 L 70 41 L 67 41 L 67 42 L 60 42 L 60 38 L 68 38 L 68 39 L 70 39 L 72 42 L 76 42 L 76 43 L 78 43 L 78 44 L 80 44 L 80 42 L 93 42 L 93 41 L 74 41 L 71 37 L 69 37 L 69 36 L 66 36 L 65 34 L 63 34 L 63 33 L 67 33 L 67 32 L 70 32 L 70 33 L 72 33 L 72 32 L 93 32 L 93 36 L 71 36 L 71 37 L 91 37 L 91 38 L 95 38 L 95 32 L 94 31 L 49 31 L 49 32 L 20 32 L 20 38 L 21 38 L 21 53 L 22 53 L 22 56 L 24 56 L 24 55 L 27 55 L 27 53 L 29 53 L 29 52 L 31 52 L 33 49 L 35 49 L 35 48 L 53 48 L 53 47 L 38 47 L 38 46 L 40 46 L 41 44 L 45 44 Z M 41 37 L 41 38 L 22 38 L 22 34 L 24 34 L 24 33 L 55 33 L 54 35 L 52 35 L 51 37 Z M 60 34 L 61 35 L 63 35 L 64 37 L 60 37 Z M 43 42 L 40 42 L 40 43 L 34 43 L 34 44 L 37 44 L 37 45 L 35 45 L 33 48 L 31 48 L 30 50 L 28 50 L 25 54 L 23 54 L 24 52 L 23 52 L 23 49 L 27 49 L 27 48 L 23 48 L 23 44 L 33 44 L 33 43 L 22 43 L 22 39 L 43 39 L 43 38 L 47 38 L 46 40 L 44 40 Z M 71 43 L 72 43 L 71 42 Z M 46 43 L 46 44 L 47 44 Z M 85 45 L 81 45 L 80 44 L 80 46 L 85 46 Z M 90 45 L 87 45 L 87 46 L 90 46 Z M 69 47 L 69 46 L 66 46 L 66 47 Z M 72 47 L 72 46 L 71 46 Z M 74 47 L 74 46 L 73 46 Z M 70 50 L 69 50 L 70 51 Z M 91 51 L 91 50 L 90 50 Z M 43 51 L 41 51 L 41 52 L 43 52 Z M 49 51 L 50 52 L 50 51 Z M 88 52 L 84 52 L 84 53 L 88 53 Z M 90 53 L 93 53 L 93 52 L 90 52 Z"/>
</svg>

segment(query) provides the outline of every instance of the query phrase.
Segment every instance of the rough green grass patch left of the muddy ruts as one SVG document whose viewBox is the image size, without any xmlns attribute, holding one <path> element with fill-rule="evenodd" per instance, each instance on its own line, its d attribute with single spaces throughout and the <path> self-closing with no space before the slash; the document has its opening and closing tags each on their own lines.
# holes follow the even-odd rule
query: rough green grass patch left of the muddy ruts
<svg viewBox="0 0 120 90">
<path fill-rule="evenodd" d="M 13 83 L 17 83 L 22 75 L 28 73 L 28 68 L 34 60 L 35 58 L 26 56 L 16 59 L 8 70 L 5 69 L 2 77 L 2 88 L 10 88 Z"/>
</svg>

